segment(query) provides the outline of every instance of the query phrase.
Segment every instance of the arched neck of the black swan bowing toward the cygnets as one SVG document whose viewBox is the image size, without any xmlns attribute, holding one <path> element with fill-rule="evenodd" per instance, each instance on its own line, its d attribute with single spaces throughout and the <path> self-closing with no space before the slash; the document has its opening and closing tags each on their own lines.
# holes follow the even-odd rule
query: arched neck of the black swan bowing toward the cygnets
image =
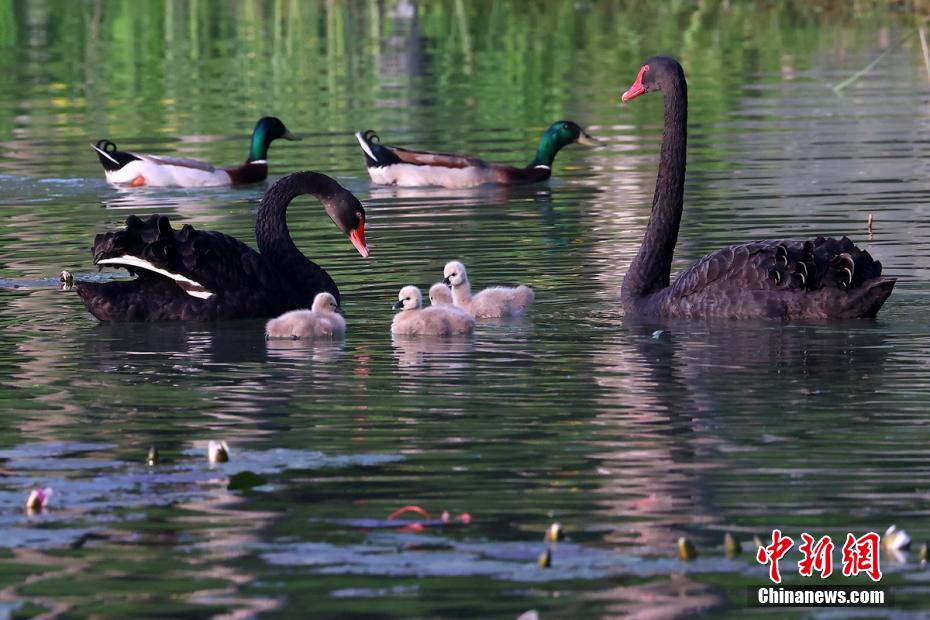
<svg viewBox="0 0 930 620">
<path fill-rule="evenodd" d="M 288 271 L 302 271 L 309 260 L 297 249 L 287 228 L 287 207 L 294 198 L 310 194 L 324 206 L 345 190 L 334 180 L 318 172 L 295 172 L 269 188 L 258 207 L 255 238 L 262 256 Z"/>
</svg>

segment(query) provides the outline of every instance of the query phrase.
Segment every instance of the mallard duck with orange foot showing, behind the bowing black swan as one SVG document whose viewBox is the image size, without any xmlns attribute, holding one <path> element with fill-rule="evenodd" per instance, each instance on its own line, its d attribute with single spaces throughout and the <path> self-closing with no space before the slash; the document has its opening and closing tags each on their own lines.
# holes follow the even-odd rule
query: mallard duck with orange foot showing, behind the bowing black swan
<svg viewBox="0 0 930 620">
<path fill-rule="evenodd" d="M 184 157 L 147 155 L 117 150 L 116 144 L 100 140 L 91 144 L 103 165 L 107 181 L 131 187 L 214 187 L 258 183 L 268 177 L 268 147 L 278 138 L 300 140 L 279 119 L 266 116 L 255 124 L 249 158 L 241 166 L 216 168 Z"/>
</svg>

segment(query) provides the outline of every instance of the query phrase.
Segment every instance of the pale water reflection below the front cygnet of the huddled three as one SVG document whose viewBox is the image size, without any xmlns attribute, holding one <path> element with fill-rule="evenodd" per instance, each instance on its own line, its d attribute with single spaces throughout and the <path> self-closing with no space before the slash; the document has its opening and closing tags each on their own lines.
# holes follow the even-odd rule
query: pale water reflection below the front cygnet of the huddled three
<svg viewBox="0 0 930 620">
<path fill-rule="evenodd" d="M 475 341 L 470 334 L 443 337 L 418 337 L 394 334 L 394 358 L 397 367 L 418 376 L 435 376 L 453 381 L 456 374 L 468 369 Z"/>
</svg>

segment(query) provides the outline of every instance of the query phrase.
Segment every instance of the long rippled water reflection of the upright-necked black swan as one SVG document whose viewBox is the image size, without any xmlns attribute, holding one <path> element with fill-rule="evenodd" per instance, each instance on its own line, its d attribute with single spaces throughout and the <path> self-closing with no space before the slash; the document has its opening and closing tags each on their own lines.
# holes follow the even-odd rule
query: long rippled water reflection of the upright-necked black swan
<svg viewBox="0 0 930 620">
<path fill-rule="evenodd" d="M 717 472 L 738 476 L 740 467 L 749 477 L 794 467 L 795 454 L 780 447 L 798 433 L 829 435 L 850 411 L 862 411 L 876 398 L 889 352 L 881 328 L 861 322 L 626 327 L 595 359 L 603 369 L 598 436 L 610 445 L 598 455 L 605 473 L 598 492 L 613 517 L 631 523 L 609 541 L 664 555 L 681 535 L 697 538 L 699 548 L 719 545 L 722 531 L 747 515 L 757 533 L 770 532 L 771 503 L 751 500 L 765 489 L 750 492 L 751 481 L 727 478 L 721 498 Z M 814 469 L 806 460 L 797 466 Z M 738 484 L 746 485 L 744 501 L 735 498 Z"/>
</svg>

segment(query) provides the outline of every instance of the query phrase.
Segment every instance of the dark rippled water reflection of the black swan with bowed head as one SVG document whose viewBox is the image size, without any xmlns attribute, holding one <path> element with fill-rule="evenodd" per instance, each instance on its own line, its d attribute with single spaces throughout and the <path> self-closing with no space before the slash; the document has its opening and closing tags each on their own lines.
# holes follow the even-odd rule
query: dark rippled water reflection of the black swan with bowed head
<svg viewBox="0 0 930 620">
<path fill-rule="evenodd" d="M 196 385 L 184 406 L 203 416 L 198 423 L 204 428 L 219 420 L 229 441 L 236 439 L 237 429 L 249 438 L 264 432 L 256 430 L 263 414 L 290 407 L 298 386 L 329 386 L 346 372 L 341 343 L 289 348 L 290 341 L 282 341 L 274 343 L 280 347 L 268 346 L 260 320 L 100 324 L 81 338 L 82 368 L 118 375 L 105 379 L 107 384 L 130 390 Z M 178 401 L 166 406 L 172 402 Z"/>
</svg>

